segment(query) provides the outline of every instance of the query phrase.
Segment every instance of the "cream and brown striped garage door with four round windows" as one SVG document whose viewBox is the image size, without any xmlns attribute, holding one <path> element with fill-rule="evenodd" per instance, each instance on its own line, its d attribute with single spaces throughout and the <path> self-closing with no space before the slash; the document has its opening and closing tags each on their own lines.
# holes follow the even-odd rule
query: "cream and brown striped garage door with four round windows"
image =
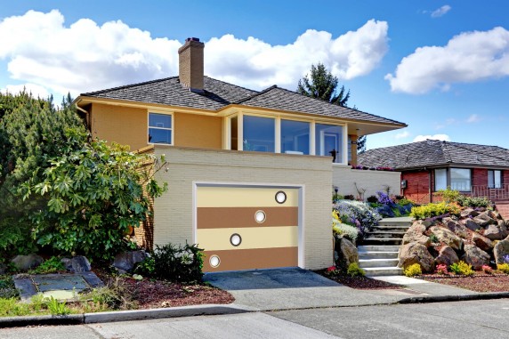
<svg viewBox="0 0 509 339">
<path fill-rule="evenodd" d="M 195 242 L 204 249 L 205 272 L 300 266 L 302 188 L 195 188 Z"/>
</svg>

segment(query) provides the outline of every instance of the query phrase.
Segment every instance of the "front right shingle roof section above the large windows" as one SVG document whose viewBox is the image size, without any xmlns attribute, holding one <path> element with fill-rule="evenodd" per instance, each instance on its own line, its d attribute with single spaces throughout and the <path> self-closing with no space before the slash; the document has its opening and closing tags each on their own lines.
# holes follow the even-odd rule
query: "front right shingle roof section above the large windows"
<svg viewBox="0 0 509 339">
<path fill-rule="evenodd" d="M 346 119 L 371 121 L 383 124 L 396 124 L 406 126 L 399 121 L 378 117 L 373 114 L 361 112 L 357 109 L 349 109 L 321 101 L 300 93 L 288 91 L 274 85 L 266 90 L 255 93 L 253 96 L 246 98 L 237 103 L 267 109 L 282 109 L 294 112 L 318 114 L 326 117 L 343 117 Z"/>
</svg>

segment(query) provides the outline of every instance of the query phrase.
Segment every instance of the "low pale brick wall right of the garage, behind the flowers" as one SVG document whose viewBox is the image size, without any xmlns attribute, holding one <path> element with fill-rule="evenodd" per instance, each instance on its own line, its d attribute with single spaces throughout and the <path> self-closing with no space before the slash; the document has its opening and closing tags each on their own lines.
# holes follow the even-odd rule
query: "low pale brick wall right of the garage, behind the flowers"
<svg viewBox="0 0 509 339">
<path fill-rule="evenodd" d="M 400 172 L 354 170 L 350 166 L 333 165 L 332 184 L 339 188 L 342 195 L 352 194 L 357 197 L 359 189 L 366 189 L 364 198 L 375 195 L 377 190 L 384 191 L 384 186 L 391 188 L 392 194 L 400 194 Z"/>
</svg>

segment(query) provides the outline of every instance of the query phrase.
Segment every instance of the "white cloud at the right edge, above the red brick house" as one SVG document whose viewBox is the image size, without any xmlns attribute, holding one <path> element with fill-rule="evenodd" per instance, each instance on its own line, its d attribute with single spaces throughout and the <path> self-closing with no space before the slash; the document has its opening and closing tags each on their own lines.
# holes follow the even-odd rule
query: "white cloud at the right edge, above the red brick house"
<svg viewBox="0 0 509 339">
<path fill-rule="evenodd" d="M 393 92 L 422 94 L 451 84 L 509 76 L 509 30 L 502 27 L 454 36 L 445 46 L 416 49 L 385 79 Z"/>
</svg>

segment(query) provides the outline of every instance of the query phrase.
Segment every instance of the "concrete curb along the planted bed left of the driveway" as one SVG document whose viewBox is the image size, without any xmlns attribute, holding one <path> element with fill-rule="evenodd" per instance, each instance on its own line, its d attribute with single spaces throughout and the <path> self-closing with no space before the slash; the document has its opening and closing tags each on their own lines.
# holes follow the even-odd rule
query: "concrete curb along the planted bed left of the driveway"
<svg viewBox="0 0 509 339">
<path fill-rule="evenodd" d="M 113 321 L 146 320 L 161 318 L 192 317 L 203 315 L 238 314 L 255 312 L 258 309 L 231 304 L 205 304 L 166 309 L 110 311 L 85 314 L 69 314 L 65 316 L 7 317 L 0 318 L 0 328 L 27 327 L 50 325 L 82 325 Z"/>
</svg>

